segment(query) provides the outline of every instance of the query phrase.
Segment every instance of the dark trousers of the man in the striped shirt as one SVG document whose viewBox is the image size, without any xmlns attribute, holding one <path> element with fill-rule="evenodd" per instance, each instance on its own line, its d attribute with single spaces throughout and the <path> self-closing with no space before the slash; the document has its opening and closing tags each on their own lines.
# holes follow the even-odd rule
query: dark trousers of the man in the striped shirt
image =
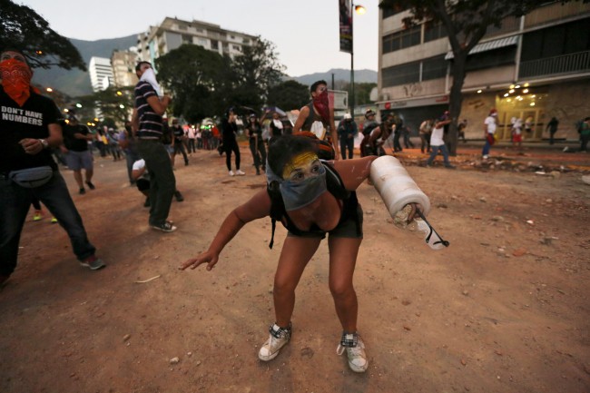
<svg viewBox="0 0 590 393">
<path fill-rule="evenodd" d="M 176 190 L 176 178 L 172 172 L 170 155 L 162 142 L 137 141 L 137 150 L 145 160 L 150 173 L 150 225 L 163 225 L 170 213 L 172 197 Z"/>
</svg>

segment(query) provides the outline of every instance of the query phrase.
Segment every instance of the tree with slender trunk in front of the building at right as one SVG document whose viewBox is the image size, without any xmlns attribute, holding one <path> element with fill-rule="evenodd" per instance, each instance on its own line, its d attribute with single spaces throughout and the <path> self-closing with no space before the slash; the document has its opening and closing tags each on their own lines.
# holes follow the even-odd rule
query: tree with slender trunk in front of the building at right
<svg viewBox="0 0 590 393">
<path fill-rule="evenodd" d="M 447 30 L 454 55 L 448 105 L 452 120 L 449 131 L 451 154 L 457 153 L 457 123 L 463 101 L 461 90 L 467 74 L 467 54 L 486 34 L 488 26 L 500 27 L 506 17 L 526 15 L 543 4 L 546 4 L 545 0 L 383 0 L 379 4 L 381 8 L 398 12 L 408 9 L 410 15 L 404 19 L 406 27 L 422 22 L 442 23 Z"/>
</svg>

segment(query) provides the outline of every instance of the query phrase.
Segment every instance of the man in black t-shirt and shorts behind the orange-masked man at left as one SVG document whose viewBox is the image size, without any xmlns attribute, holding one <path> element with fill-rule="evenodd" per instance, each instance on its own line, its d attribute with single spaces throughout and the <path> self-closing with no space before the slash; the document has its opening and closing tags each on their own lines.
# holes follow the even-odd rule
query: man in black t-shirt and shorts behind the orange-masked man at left
<svg viewBox="0 0 590 393">
<path fill-rule="evenodd" d="M 84 183 L 82 182 L 82 169 L 84 168 L 85 183 L 88 188 L 94 190 L 92 182 L 94 163 L 93 155 L 88 150 L 88 142 L 93 140 L 93 134 L 88 127 L 78 123 L 75 116 L 70 116 L 69 120 L 64 122 L 64 152 L 68 168 L 74 171 L 74 180 L 78 183 L 80 193 L 86 193 Z"/>
</svg>

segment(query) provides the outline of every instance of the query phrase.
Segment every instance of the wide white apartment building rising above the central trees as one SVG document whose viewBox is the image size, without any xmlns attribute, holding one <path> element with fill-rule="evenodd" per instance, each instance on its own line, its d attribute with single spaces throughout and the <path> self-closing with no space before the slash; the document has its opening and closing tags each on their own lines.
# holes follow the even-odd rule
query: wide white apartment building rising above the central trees
<svg viewBox="0 0 590 393">
<path fill-rule="evenodd" d="M 137 52 L 140 60 L 154 64 L 156 58 L 182 44 L 195 44 L 233 58 L 255 39 L 254 35 L 225 30 L 220 25 L 166 17 L 162 24 L 151 26 L 149 31 L 138 35 Z"/>
</svg>

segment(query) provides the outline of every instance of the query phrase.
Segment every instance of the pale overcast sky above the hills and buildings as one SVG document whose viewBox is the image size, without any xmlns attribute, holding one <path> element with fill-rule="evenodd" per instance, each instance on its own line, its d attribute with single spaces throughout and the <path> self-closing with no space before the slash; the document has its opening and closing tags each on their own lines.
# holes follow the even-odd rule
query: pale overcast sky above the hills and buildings
<svg viewBox="0 0 590 393">
<path fill-rule="evenodd" d="M 339 52 L 339 0 L 14 0 L 42 15 L 58 34 L 94 41 L 146 31 L 164 17 L 198 20 L 261 35 L 277 47 L 290 76 L 350 68 Z M 362 0 L 354 16 L 354 68 L 377 71 L 379 0 Z"/>
</svg>

